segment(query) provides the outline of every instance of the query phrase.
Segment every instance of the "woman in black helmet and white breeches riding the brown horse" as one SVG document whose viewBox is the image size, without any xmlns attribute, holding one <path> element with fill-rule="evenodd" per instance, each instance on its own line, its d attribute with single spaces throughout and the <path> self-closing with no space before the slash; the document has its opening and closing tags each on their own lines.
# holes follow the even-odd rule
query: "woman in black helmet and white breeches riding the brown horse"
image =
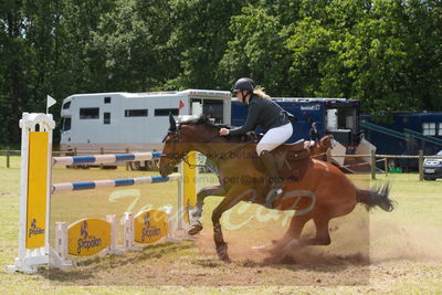
<svg viewBox="0 0 442 295">
<path fill-rule="evenodd" d="M 277 196 L 282 193 L 284 182 L 277 175 L 276 162 L 271 151 L 292 136 L 293 126 L 290 115 L 280 105 L 270 99 L 270 96 L 262 88 L 255 88 L 253 81 L 249 77 L 238 80 L 233 92 L 241 103 L 248 104 L 248 117 L 243 126 L 234 129 L 221 128 L 220 135 L 242 135 L 253 130 L 256 126 L 261 126 L 266 130 L 256 145 L 256 154 L 269 176 L 271 191 L 276 192 Z M 269 193 L 266 202 L 269 203 L 274 197 L 275 194 Z"/>
</svg>

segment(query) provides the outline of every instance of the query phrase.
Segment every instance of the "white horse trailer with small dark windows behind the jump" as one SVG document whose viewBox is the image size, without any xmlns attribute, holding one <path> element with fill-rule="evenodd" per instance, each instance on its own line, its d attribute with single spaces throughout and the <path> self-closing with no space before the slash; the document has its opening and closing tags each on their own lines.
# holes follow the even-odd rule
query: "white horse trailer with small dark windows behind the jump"
<svg viewBox="0 0 442 295">
<path fill-rule="evenodd" d="M 63 101 L 60 148 L 78 154 L 159 151 L 169 114 L 204 114 L 214 123 L 230 124 L 230 92 L 203 89 L 74 94 Z"/>
</svg>

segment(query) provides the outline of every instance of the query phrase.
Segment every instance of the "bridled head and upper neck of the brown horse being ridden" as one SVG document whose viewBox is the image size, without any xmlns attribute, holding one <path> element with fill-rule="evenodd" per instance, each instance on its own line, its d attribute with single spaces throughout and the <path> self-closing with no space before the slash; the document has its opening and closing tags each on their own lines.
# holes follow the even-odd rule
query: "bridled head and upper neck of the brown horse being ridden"
<svg viewBox="0 0 442 295">
<path fill-rule="evenodd" d="M 218 129 L 210 126 L 203 117 L 177 125 L 173 116 L 169 116 L 169 130 L 162 140 L 165 144 L 159 160 L 159 172 L 168 176 L 173 167 L 180 164 L 191 150 L 199 150 L 201 143 L 208 143 L 218 136 Z"/>
</svg>

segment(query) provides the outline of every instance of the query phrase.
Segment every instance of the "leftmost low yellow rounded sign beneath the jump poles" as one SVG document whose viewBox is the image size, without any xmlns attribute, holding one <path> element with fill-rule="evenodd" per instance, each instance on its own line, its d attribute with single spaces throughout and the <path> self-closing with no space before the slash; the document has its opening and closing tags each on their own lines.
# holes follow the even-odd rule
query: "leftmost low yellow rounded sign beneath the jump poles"
<svg viewBox="0 0 442 295">
<path fill-rule="evenodd" d="M 67 228 L 67 253 L 88 256 L 110 243 L 110 223 L 101 219 L 83 219 Z"/>
</svg>

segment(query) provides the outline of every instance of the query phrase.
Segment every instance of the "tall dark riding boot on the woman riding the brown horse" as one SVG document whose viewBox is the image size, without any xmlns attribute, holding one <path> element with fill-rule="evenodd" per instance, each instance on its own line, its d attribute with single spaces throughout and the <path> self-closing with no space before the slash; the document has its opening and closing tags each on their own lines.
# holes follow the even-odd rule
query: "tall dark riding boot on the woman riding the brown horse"
<svg viewBox="0 0 442 295">
<path fill-rule="evenodd" d="M 283 179 L 277 175 L 277 167 L 273 155 L 269 150 L 263 150 L 260 155 L 261 162 L 263 164 L 269 182 L 271 185 L 271 191 L 267 193 L 265 199 L 265 206 L 271 207 L 273 201 L 283 192 L 284 188 Z"/>
</svg>

